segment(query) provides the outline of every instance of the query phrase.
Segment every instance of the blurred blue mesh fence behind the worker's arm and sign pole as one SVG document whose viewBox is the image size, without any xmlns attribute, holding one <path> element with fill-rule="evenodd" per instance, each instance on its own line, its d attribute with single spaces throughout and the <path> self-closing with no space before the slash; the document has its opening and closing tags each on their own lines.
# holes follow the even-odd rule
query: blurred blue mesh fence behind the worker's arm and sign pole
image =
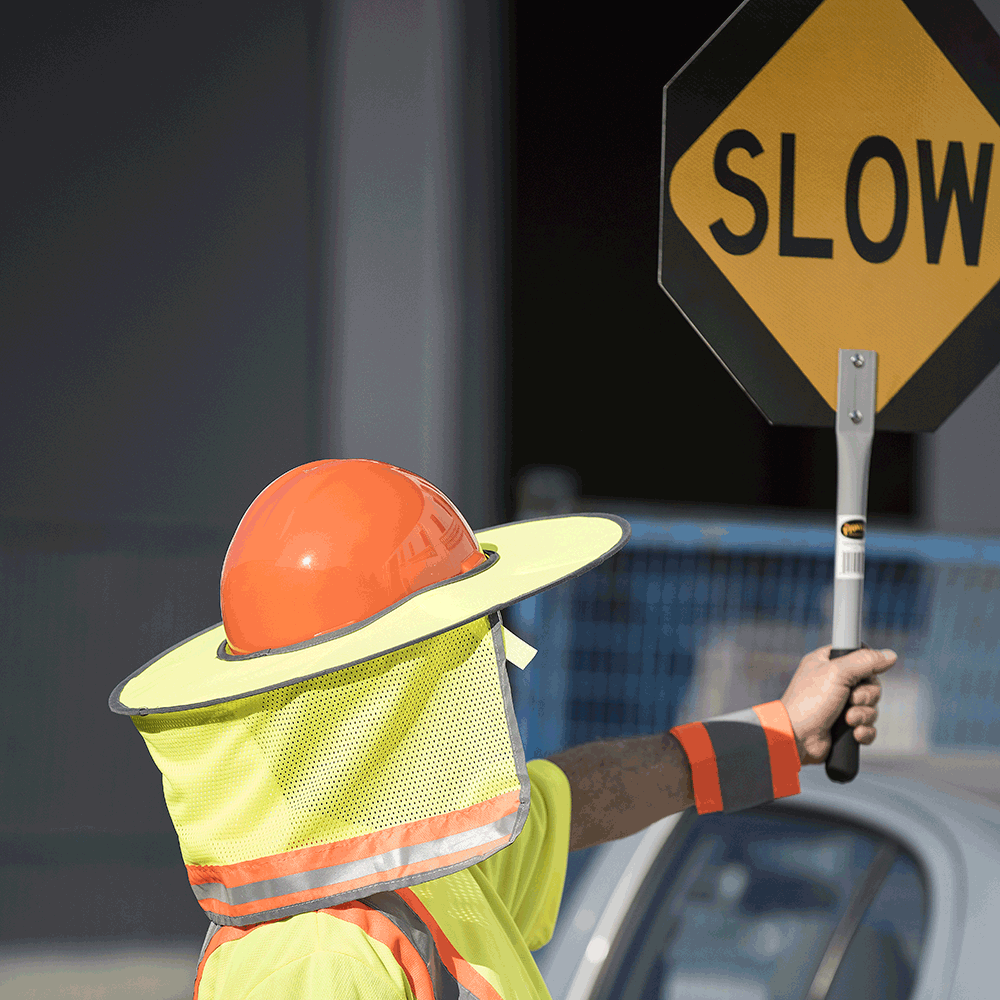
<svg viewBox="0 0 1000 1000">
<path fill-rule="evenodd" d="M 539 648 L 511 671 L 529 758 L 776 698 L 830 641 L 832 530 L 630 522 L 613 559 L 508 612 Z M 862 638 L 900 654 L 883 715 L 927 749 L 1000 747 L 1000 544 L 875 531 L 867 549 Z"/>
</svg>

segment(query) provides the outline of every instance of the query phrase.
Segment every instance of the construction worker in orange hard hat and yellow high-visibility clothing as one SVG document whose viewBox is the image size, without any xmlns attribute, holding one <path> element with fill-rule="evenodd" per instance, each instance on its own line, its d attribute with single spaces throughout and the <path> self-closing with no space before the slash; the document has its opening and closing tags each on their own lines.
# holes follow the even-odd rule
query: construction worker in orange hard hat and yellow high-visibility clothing
<svg viewBox="0 0 1000 1000">
<path fill-rule="evenodd" d="M 196 1000 L 542 1000 L 531 951 L 568 851 L 795 794 L 849 697 L 874 740 L 895 654 L 825 648 L 780 701 L 526 764 L 506 669 L 534 651 L 500 610 L 628 536 L 605 514 L 474 534 L 430 483 L 372 461 L 300 466 L 257 497 L 222 623 L 109 700 L 163 774 L 210 921 Z"/>
</svg>

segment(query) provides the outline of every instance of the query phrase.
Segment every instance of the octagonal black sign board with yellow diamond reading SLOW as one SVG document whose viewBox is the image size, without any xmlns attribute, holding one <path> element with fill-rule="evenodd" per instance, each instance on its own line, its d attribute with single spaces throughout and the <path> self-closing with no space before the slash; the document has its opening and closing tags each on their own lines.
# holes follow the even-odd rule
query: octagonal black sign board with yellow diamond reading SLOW
<svg viewBox="0 0 1000 1000">
<path fill-rule="evenodd" d="M 664 88 L 660 284 L 776 424 L 931 431 L 1000 362 L 1000 39 L 972 0 L 747 0 Z"/>
</svg>

